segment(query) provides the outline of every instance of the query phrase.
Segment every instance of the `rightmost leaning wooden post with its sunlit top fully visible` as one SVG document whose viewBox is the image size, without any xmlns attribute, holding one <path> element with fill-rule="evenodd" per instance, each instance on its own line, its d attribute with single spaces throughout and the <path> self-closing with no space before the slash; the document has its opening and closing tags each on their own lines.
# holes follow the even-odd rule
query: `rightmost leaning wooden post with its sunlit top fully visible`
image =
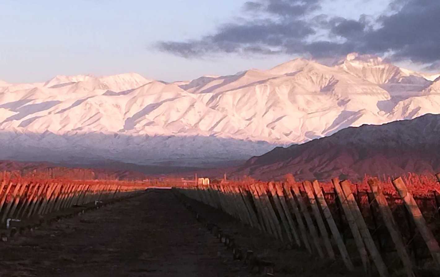
<svg viewBox="0 0 440 277">
<path fill-rule="evenodd" d="M 426 226 L 425 218 L 422 215 L 422 212 L 417 206 L 417 203 L 414 200 L 412 194 L 408 191 L 407 186 L 403 182 L 402 178 L 399 177 L 392 181 L 392 184 L 396 188 L 397 192 L 402 198 L 407 210 L 410 212 L 412 218 L 414 219 L 415 225 L 417 226 L 418 231 L 422 235 L 423 239 L 428 246 L 429 252 L 433 256 L 434 261 L 437 265 L 440 265 L 440 247 L 436 238 L 433 236 L 433 233 Z"/>
</svg>

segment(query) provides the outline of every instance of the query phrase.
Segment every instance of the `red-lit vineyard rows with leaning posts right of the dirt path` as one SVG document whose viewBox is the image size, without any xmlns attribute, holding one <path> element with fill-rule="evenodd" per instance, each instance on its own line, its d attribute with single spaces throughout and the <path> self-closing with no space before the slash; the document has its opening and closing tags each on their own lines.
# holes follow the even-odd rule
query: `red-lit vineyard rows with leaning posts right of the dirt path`
<svg viewBox="0 0 440 277">
<path fill-rule="evenodd" d="M 286 245 L 373 276 L 439 276 L 440 175 L 206 182 L 176 190 Z"/>
</svg>

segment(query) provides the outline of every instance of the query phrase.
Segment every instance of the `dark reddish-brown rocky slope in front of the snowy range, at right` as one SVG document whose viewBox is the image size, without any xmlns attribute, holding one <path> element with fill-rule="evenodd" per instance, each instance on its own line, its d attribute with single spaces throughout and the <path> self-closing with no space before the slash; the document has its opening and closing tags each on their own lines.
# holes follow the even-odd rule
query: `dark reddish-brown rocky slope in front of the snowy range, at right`
<svg viewBox="0 0 440 277">
<path fill-rule="evenodd" d="M 440 172 L 440 115 L 383 125 L 363 125 L 338 131 L 249 159 L 232 176 L 279 179 L 287 173 L 298 179 L 362 179 L 399 176 L 407 172 Z"/>
</svg>

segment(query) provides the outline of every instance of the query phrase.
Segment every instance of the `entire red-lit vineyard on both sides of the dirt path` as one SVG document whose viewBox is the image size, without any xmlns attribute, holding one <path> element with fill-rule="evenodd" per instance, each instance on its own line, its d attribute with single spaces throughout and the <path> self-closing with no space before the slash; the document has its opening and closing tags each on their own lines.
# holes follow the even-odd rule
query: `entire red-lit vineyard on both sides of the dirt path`
<svg viewBox="0 0 440 277">
<path fill-rule="evenodd" d="M 336 178 L 320 183 L 298 182 L 292 175 L 286 175 L 285 182 L 197 177 L 197 182 L 123 182 L 22 177 L 3 172 L 0 180 L 3 241 L 43 222 L 57 222 L 66 215 L 81 215 L 88 209 L 128 199 L 146 188 L 173 187 L 179 199 L 189 197 L 211 206 L 214 213 L 224 211 L 286 249 L 308 253 L 324 264 L 340 263 L 353 274 L 359 270 L 381 277 L 440 274 L 440 174 L 408 174 L 397 179 L 366 176 L 361 182 Z M 159 196 L 172 200 L 166 194 Z M 160 206 L 161 201 L 156 203 Z M 174 209 L 178 210 L 178 205 Z M 212 214 L 210 218 L 214 218 Z M 220 234 L 220 227 L 214 228 L 213 222 L 208 220 L 207 226 Z M 174 239 L 175 235 L 170 236 Z M 234 259 L 243 258 L 243 249 L 228 242 L 233 241 L 230 236 L 219 236 L 233 250 Z M 274 268 L 272 262 L 263 264 Z"/>
</svg>

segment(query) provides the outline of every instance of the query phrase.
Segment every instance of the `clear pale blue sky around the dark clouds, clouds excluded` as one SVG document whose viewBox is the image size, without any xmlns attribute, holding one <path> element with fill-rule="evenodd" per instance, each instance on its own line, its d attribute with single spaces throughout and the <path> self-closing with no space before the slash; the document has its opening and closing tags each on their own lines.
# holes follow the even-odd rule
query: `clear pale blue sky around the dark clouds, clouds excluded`
<svg viewBox="0 0 440 277">
<path fill-rule="evenodd" d="M 153 47 L 215 33 L 243 17 L 246 0 L 2 0 L 0 80 L 44 81 L 75 74 L 137 72 L 158 80 L 189 80 L 204 74 L 267 69 L 294 54 L 222 54 L 183 58 Z M 386 2 L 323 0 L 323 12 L 357 20 L 379 15 Z M 359 5 L 362 9 L 359 9 Z M 249 16 L 249 15 L 248 15 Z"/>
</svg>

